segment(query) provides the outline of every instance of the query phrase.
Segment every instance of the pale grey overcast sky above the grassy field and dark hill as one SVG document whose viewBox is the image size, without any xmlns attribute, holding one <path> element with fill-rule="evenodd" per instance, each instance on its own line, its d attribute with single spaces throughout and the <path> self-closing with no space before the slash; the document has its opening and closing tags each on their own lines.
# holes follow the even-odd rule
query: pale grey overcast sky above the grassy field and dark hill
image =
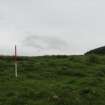
<svg viewBox="0 0 105 105">
<path fill-rule="evenodd" d="M 84 54 L 105 45 L 104 0 L 0 0 L 0 55 Z"/>
</svg>

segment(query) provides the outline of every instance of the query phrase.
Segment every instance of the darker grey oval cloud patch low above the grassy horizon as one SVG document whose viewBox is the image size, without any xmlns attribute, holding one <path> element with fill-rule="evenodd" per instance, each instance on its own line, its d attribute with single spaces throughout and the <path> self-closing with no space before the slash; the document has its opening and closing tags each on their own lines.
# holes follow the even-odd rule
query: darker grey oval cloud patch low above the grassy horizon
<svg viewBox="0 0 105 105">
<path fill-rule="evenodd" d="M 65 50 L 68 43 L 57 37 L 30 35 L 22 42 L 24 46 L 34 47 L 39 50 Z"/>
</svg>

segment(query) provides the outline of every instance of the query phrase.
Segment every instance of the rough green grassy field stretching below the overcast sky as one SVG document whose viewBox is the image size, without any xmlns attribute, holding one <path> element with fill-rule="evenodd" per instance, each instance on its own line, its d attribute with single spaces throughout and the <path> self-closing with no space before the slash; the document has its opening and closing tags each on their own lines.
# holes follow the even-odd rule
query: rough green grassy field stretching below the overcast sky
<svg viewBox="0 0 105 105">
<path fill-rule="evenodd" d="M 0 105 L 105 105 L 105 56 L 2 56 Z"/>
</svg>

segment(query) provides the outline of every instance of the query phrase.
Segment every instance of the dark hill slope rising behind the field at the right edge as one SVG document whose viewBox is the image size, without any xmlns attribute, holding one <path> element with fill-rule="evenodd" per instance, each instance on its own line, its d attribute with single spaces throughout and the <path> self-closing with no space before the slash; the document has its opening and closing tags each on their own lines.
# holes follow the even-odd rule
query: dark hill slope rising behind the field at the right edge
<svg viewBox="0 0 105 105">
<path fill-rule="evenodd" d="M 105 46 L 90 50 L 85 53 L 85 55 L 87 54 L 105 54 Z"/>
</svg>

